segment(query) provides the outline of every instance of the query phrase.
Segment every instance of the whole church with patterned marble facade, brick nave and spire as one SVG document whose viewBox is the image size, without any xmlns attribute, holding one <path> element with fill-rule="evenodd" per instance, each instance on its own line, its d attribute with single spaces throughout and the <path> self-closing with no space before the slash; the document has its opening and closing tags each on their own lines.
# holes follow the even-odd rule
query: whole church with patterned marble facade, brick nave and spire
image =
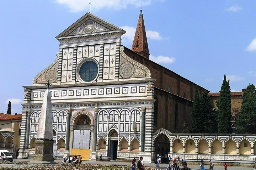
<svg viewBox="0 0 256 170">
<path fill-rule="evenodd" d="M 121 44 L 125 33 L 86 13 L 56 37 L 54 62 L 32 86 L 23 86 L 21 147 L 26 149 L 19 158 L 35 155 L 47 82 L 52 84 L 53 157 L 130 161 L 143 156 L 151 162 L 157 153 L 173 153 L 171 132 L 181 133 L 183 122 L 191 127 L 196 84 L 149 60 L 142 11 L 132 50 Z"/>
</svg>

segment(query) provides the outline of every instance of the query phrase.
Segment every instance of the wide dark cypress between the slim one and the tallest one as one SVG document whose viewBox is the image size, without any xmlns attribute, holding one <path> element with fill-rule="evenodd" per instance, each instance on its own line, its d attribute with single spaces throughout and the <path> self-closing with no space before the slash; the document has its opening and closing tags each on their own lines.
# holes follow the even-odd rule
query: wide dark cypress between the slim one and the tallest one
<svg viewBox="0 0 256 170">
<path fill-rule="evenodd" d="M 202 115 L 202 126 L 204 127 L 201 133 L 217 133 L 217 113 L 210 102 L 210 96 L 207 91 L 204 91 L 200 97 L 200 113 Z"/>
</svg>

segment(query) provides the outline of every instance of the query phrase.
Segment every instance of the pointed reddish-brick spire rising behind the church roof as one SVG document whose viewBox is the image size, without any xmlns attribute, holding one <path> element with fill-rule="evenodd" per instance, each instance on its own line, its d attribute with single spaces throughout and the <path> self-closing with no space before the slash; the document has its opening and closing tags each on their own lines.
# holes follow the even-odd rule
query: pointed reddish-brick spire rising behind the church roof
<svg viewBox="0 0 256 170">
<path fill-rule="evenodd" d="M 142 10 L 140 10 L 139 20 L 133 39 L 132 51 L 139 55 L 149 58 L 148 40 L 146 38 L 146 29 L 144 25 Z"/>
</svg>

